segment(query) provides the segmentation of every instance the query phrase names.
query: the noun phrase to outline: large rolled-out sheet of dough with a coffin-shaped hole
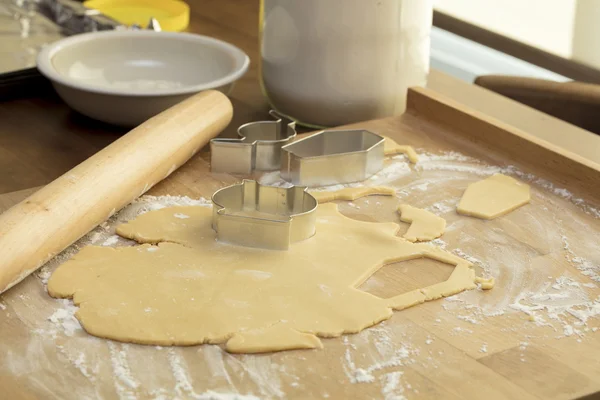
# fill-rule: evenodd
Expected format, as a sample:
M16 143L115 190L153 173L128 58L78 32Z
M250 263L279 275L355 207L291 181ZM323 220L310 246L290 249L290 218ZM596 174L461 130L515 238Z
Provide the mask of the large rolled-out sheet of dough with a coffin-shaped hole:
M158 246L87 246L52 274L48 292L72 297L95 336L260 353L321 347L318 337L356 333L394 309L476 287L469 262L396 237L397 224L353 220L335 204L316 213L315 236L270 251L216 241L210 207L151 211L117 232ZM384 264L419 257L454 265L450 278L390 299L357 289Z

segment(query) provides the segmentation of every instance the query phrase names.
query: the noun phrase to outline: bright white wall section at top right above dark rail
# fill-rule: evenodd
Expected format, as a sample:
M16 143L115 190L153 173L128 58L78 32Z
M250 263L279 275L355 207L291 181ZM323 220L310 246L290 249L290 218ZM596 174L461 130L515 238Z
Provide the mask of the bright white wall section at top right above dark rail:
M600 15L600 0L579 1L598 8L596 17ZM436 0L435 8L548 52L571 57L576 5L577 0ZM600 20L593 24L600 26ZM596 36L596 40L600 44L600 37ZM600 48L596 51L600 60Z

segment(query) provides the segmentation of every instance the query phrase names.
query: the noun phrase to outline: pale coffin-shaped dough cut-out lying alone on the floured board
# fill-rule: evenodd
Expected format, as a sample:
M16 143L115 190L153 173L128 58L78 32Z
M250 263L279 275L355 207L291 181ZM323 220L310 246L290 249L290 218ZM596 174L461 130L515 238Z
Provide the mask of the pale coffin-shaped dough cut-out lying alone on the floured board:
M456 211L462 215L494 219L529 203L529 185L510 176L495 174L471 183Z

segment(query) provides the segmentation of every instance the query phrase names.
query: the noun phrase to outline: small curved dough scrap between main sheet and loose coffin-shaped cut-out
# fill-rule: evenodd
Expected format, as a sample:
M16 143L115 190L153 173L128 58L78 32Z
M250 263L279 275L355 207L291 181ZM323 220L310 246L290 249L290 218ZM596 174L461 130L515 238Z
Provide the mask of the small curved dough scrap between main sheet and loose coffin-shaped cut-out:
M408 231L402 236L411 242L424 242L439 238L446 229L446 220L420 208L401 204L398 206L400 220L410 222Z

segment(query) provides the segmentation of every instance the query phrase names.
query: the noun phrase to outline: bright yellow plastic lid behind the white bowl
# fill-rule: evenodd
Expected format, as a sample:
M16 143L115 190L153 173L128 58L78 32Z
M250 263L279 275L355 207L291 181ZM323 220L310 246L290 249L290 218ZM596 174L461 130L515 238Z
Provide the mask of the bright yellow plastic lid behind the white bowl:
M146 27L155 18L163 31L179 32L190 23L190 7L179 0L88 0L83 5L123 25Z

